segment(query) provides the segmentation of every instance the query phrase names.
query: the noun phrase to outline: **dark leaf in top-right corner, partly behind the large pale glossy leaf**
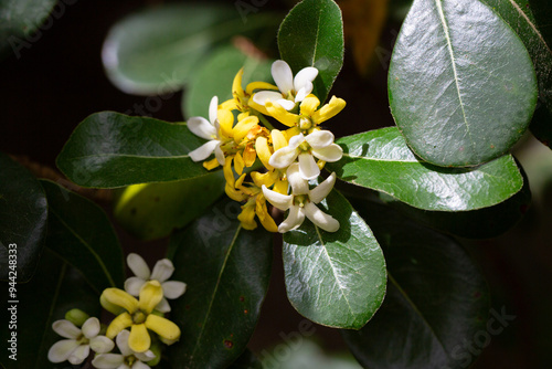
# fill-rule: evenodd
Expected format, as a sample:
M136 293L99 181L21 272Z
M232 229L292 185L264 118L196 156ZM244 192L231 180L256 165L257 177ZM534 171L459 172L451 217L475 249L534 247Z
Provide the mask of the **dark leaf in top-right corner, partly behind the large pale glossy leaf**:
M491 7L523 41L534 64L539 82L540 107L531 122L531 131L546 146L552 145L552 39L549 0L482 0Z

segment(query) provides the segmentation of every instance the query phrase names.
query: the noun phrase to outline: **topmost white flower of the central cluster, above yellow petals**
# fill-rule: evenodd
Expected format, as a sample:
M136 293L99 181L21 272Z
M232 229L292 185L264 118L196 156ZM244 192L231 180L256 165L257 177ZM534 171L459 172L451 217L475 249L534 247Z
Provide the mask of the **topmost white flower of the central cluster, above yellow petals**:
M273 63L272 74L279 93L259 91L253 95L253 101L263 106L266 101L270 101L286 110L290 110L295 107L295 104L302 102L312 92L312 81L318 75L318 70L314 66L304 67L294 78L289 65L284 61L276 61Z

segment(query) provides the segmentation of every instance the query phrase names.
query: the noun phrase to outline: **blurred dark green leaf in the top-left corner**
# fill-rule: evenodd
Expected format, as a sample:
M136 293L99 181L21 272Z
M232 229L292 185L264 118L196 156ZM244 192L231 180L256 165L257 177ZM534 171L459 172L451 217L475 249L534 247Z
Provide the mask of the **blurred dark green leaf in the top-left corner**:
M42 36L40 27L54 8L56 0L2 0L0 1L0 55L14 53L21 57L23 50ZM53 20L50 20L49 28ZM44 27L45 28L45 27Z

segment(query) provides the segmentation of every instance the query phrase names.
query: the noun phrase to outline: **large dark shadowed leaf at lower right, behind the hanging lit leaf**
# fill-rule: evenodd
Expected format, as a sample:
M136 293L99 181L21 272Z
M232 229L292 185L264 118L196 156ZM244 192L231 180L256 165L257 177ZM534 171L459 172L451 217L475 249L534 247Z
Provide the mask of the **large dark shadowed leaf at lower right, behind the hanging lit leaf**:
M469 367L503 329L487 320L488 288L477 266L453 239L389 207L355 204L383 247L389 280L374 318L360 331L342 331L353 355L365 368Z

